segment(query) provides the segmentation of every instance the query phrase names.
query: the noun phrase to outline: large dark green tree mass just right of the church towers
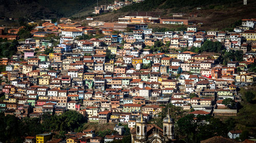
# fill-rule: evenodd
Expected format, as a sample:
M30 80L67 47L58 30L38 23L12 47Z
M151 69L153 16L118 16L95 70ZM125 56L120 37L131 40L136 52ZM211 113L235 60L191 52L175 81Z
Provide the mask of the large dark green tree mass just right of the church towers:
M185 142L200 142L213 136L227 136L226 125L210 115L189 114L177 121L176 134Z

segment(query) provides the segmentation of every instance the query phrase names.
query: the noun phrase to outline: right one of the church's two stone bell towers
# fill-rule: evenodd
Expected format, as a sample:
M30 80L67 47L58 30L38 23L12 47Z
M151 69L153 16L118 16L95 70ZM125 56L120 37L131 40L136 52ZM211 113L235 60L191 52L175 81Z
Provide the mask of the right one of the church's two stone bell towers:
M163 119L163 135L169 139L174 139L174 119L170 118L169 108L167 116Z

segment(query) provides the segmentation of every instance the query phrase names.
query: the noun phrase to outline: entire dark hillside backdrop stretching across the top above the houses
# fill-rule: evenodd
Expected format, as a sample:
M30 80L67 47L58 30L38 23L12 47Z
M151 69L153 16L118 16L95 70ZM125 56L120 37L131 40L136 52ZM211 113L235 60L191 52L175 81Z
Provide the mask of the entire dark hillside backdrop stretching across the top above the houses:
M109 5L114 4L114 0L98 0L98 3ZM256 18L256 1L247 0L247 4L243 5L243 0L145 0L111 13L94 15L94 19L117 21L118 17L137 14L173 18L172 13L184 13L186 15L180 18L203 23L199 27L202 30L231 30L238 20ZM92 14L95 6L97 0L0 0L0 17L24 17L31 20L73 17L81 21ZM197 11L198 7L201 10ZM188 17L189 13L197 13L199 17ZM150 27L154 26L173 28L175 25L150 24Z

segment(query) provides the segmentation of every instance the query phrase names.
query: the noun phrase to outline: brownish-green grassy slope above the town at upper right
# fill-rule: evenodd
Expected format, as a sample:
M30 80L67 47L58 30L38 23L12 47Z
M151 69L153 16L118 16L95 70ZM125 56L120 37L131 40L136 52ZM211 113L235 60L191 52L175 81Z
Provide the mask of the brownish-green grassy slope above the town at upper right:
M231 0L230 0L231 2ZM146 0L141 4L134 4L131 6L126 6L118 11L112 13L106 13L100 16L96 16L96 19L101 19L102 21L112 21L112 18L115 20L118 17L124 15L136 15L136 12L155 12L151 16L158 17L159 15L164 18L173 18L171 13L173 12L184 12L184 13L199 13L200 17L191 18L197 22L202 22L203 25L199 27L200 30L222 30L223 28L230 27L234 21L243 19L243 18L255 18L255 4L256 1L248 0L248 5L244 6L242 1L233 0L231 3L229 1L204 1L201 3L201 0L193 1L193 4L190 4L188 0ZM187 6L185 4L190 4ZM206 5L207 4L207 5ZM202 10L197 11L196 8L201 7ZM135 14L134 14L135 13ZM183 16L182 18L187 18L188 15ZM175 28L177 25L167 25L167 24L154 24L150 25L151 27L167 27Z

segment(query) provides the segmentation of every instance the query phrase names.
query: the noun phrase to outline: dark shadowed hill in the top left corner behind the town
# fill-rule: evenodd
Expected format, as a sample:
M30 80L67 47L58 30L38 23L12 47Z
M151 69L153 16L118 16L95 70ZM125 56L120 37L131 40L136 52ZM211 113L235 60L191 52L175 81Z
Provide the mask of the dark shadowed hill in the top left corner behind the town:
M99 5L113 4L114 0L98 0ZM97 0L0 0L0 17L31 19L70 17L92 13Z

